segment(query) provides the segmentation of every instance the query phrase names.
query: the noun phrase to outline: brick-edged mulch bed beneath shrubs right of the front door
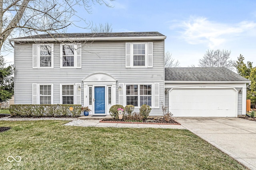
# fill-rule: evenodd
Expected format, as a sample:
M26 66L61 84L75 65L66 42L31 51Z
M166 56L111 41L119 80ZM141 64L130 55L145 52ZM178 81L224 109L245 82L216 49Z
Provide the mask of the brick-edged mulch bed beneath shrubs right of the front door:
M157 125L180 125L180 123L171 119L170 121L166 121L163 118L148 118L143 119L142 122L131 122L124 121L124 119L102 119L101 123L138 123L138 124L157 124Z

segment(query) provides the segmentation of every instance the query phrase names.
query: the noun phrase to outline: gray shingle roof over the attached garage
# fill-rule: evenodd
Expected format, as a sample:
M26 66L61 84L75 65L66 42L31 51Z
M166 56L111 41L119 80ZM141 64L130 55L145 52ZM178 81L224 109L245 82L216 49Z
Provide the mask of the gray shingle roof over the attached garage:
M249 81L225 67L165 68L165 81Z

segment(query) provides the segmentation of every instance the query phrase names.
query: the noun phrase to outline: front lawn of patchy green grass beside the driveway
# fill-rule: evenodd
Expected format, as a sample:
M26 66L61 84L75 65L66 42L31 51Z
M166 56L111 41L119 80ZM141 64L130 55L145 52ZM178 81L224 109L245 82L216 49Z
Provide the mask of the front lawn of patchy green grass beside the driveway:
M239 170L188 130L70 127L68 121L0 121L0 169ZM7 161L20 156L19 164Z

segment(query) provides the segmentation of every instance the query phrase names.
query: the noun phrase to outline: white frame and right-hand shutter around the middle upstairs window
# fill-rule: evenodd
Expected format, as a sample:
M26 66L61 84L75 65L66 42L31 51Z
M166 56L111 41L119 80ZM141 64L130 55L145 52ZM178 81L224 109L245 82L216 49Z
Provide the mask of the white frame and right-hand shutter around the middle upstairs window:
M74 45L74 66L63 66L63 56L62 56L62 46L63 45ZM80 45L79 49L78 46ZM70 69L70 68L82 68L82 54L81 54L81 43L61 43L60 44L60 68L61 69ZM80 67L77 67L77 50L80 50Z

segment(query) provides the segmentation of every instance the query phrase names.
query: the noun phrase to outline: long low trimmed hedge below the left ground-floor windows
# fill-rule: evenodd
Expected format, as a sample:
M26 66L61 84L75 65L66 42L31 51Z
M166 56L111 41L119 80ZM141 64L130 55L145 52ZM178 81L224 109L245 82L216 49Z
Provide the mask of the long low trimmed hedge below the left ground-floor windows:
M73 107L73 111L69 108ZM10 105L9 111L12 116L80 116L82 105Z

